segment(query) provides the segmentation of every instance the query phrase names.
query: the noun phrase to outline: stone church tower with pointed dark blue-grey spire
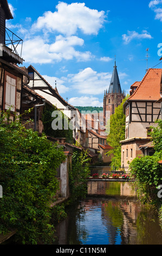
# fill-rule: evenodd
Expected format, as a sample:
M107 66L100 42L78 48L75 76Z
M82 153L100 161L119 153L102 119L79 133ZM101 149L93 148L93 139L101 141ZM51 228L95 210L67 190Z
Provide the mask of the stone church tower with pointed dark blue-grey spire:
M105 91L103 96L103 115L106 117L106 111L109 111L109 114L112 115L115 112L115 108L118 107L122 100L125 98L124 91L122 92L116 61L114 65L114 70L112 74L111 83L109 84L109 89Z

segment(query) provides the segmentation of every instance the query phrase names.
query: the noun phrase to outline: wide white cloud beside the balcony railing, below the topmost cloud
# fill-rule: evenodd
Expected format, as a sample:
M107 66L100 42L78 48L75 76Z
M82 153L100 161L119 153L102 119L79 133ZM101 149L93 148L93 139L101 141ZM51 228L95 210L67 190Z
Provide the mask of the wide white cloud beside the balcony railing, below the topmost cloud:
M75 46L82 46L83 39L77 36L62 35L56 36L53 44L46 42L41 36L35 36L33 39L27 39L23 43L23 58L29 63L53 63L61 62L62 59L77 61L87 61L93 58L90 52L80 52L75 50Z

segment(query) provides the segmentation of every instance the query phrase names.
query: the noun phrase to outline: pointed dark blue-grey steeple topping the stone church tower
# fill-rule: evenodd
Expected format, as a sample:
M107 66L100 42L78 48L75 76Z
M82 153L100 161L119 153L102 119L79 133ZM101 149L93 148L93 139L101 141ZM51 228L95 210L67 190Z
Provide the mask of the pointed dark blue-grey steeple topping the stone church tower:
M109 85L108 93L122 93L119 76L118 76L118 71L116 68L117 68L117 66L116 66L116 58L115 58L115 65L114 65L114 70L113 70L113 74L112 74L111 83Z

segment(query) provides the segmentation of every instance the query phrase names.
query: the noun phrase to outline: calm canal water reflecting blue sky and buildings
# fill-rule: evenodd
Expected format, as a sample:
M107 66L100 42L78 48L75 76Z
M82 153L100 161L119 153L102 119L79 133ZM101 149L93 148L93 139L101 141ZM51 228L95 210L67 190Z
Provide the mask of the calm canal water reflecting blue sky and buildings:
M132 182L88 181L86 199L56 226L56 245L161 245L162 224Z

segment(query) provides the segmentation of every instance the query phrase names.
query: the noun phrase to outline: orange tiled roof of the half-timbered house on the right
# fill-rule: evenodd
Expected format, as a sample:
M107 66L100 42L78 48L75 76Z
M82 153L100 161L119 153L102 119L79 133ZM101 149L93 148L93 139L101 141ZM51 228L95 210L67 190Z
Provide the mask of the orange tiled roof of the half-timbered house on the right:
M159 100L161 74L162 69L148 69L138 88L128 100Z

